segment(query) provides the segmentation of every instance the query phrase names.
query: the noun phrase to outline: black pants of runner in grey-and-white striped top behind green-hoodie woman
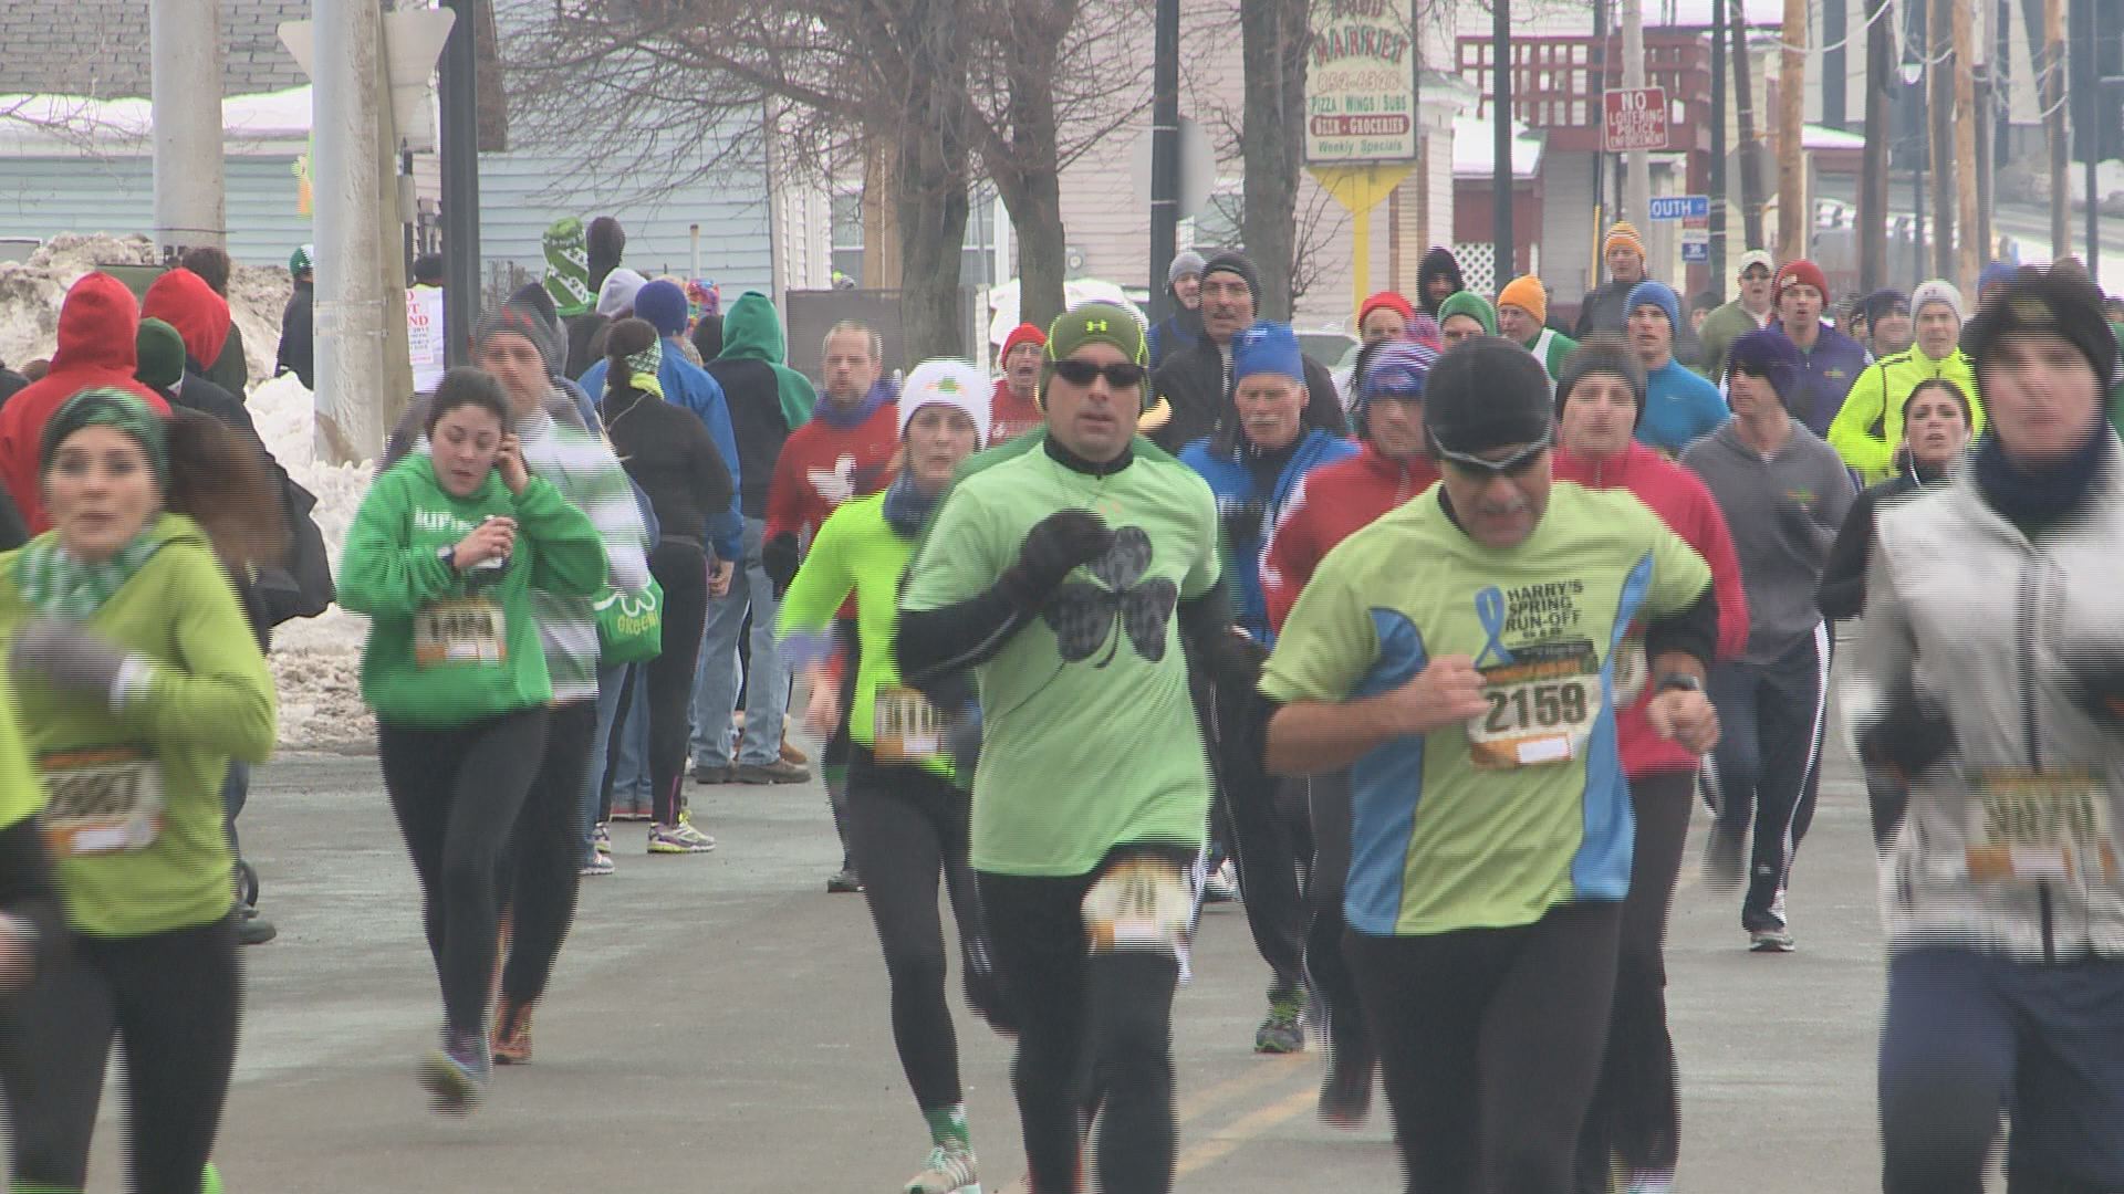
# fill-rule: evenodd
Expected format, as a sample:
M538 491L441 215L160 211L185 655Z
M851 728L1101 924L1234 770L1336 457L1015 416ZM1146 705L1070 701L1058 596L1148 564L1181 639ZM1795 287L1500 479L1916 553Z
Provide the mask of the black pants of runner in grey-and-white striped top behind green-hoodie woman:
M503 863L510 958L501 969L501 996L516 1007L546 994L582 888L582 790L590 782L597 701L554 705L548 718L546 752Z

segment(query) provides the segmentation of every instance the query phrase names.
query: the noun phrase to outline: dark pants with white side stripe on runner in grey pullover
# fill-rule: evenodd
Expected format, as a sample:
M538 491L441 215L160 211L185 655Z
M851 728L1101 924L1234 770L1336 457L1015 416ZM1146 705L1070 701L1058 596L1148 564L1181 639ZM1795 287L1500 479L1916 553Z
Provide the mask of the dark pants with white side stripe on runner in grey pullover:
M1720 733L1708 780L1718 797L1718 833L1744 835L1754 820L1740 911L1740 926L1750 933L1784 928L1771 907L1814 822L1827 690L1827 625L1771 663L1712 667L1710 697Z

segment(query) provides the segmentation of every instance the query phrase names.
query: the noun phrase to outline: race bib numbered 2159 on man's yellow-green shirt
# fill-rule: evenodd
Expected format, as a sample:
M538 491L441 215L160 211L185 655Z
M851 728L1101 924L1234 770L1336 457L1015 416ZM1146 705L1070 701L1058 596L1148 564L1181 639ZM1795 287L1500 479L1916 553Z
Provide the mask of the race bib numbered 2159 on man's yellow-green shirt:
M1593 646L1534 644L1483 669L1489 712L1468 720L1468 748L1483 771L1570 763L1585 754L1601 712Z

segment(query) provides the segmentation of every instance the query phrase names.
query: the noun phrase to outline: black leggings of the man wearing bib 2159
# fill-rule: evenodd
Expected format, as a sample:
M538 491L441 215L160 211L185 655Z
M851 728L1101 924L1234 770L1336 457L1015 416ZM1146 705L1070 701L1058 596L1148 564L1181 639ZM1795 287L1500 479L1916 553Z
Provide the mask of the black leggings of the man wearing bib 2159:
M1621 920L1585 903L1517 928L1349 935L1408 1194L1572 1188Z

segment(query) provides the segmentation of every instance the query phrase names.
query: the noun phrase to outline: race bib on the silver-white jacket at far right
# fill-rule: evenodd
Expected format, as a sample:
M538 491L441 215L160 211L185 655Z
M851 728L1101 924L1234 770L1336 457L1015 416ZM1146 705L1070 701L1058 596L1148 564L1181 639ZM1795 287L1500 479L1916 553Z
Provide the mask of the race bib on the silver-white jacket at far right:
M1969 773L1969 877L2116 886L2109 790L2086 769Z

